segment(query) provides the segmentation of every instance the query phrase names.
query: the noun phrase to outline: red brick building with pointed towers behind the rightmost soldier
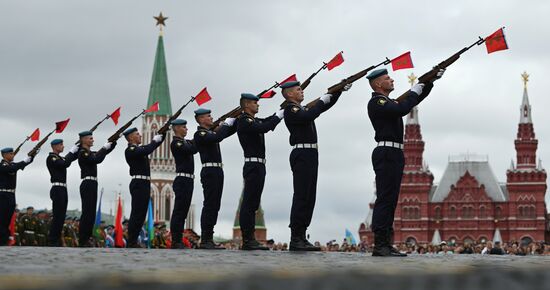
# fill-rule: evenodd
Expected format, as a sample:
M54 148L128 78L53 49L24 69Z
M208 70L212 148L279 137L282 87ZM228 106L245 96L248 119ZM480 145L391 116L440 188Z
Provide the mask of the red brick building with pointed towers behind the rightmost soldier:
M528 75L522 76L525 87L514 141L516 160L506 172L505 183L498 182L486 157L464 156L450 158L439 184L434 184L422 157L418 109L412 110L405 129L405 170L394 221L396 243L545 240L549 228L546 171L537 162ZM369 227L373 206L359 228L359 236L369 242L373 241Z

